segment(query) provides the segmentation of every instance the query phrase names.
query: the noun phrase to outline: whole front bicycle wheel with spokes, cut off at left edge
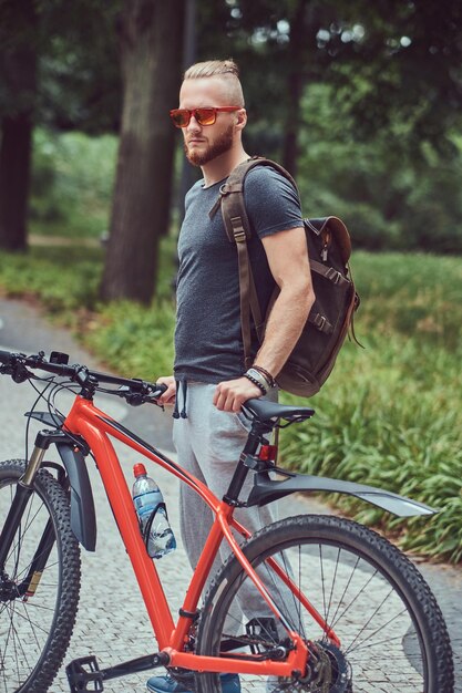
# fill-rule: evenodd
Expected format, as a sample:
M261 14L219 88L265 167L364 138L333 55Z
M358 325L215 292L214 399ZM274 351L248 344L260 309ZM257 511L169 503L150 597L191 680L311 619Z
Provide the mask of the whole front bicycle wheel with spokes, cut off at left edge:
M25 463L0 463L0 527L11 506ZM27 600L14 586L28 575L40 537L51 520L53 541L37 591ZM80 547L71 529L66 493L45 469L0 575L0 693L45 693L66 652L80 593Z

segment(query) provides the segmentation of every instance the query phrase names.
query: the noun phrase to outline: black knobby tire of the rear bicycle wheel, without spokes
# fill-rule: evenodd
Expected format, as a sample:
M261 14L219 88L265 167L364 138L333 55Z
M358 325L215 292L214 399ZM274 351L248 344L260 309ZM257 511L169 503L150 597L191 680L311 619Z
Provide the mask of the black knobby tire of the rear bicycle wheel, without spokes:
M244 552L251 562L264 551L287 541L289 537L302 536L337 539L371 559L401 591L404 601L413 610L432 661L430 684L424 693L453 693L454 669L451 642L444 618L438 602L411 560L388 539L353 520L325 515L300 515L279 520L256 532L244 545ZM214 620L219 596L233 585L242 567L233 555L228 557L209 586L197 633L197 652L209 653L208 642L214 631ZM199 690L206 691L207 685Z

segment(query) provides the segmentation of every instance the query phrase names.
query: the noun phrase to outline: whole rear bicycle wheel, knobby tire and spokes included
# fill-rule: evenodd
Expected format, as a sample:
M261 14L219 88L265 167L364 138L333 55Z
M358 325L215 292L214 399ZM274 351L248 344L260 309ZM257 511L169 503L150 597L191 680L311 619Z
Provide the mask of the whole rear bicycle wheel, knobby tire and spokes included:
M343 518L304 515L258 531L246 544L245 555L318 658L311 659L312 671L305 672L305 681L242 675L246 691L453 693L452 651L441 610L414 565L377 532ZM340 638L338 648L295 596L288 596L274 571L269 575L264 561L271 557L290 565L294 581ZM248 656L253 640L254 651L270 659L265 652L284 642L281 627L263 621L257 602L248 607L251 590L255 596L240 563L229 557L204 600L198 654L216 656L234 643L235 656L238 651ZM243 599L247 617L240 616ZM258 620L263 624L255 629ZM196 674L196 685L199 693L222 691L217 674Z

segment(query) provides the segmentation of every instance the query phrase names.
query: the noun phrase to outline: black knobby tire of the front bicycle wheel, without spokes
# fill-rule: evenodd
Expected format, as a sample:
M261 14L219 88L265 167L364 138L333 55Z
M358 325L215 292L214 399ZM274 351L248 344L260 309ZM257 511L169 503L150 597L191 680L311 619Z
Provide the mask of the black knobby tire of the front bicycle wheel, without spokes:
M0 463L0 484L7 479L19 479L24 473L25 463L11 459ZM69 498L58 480L47 470L40 469L35 488L54 518L61 544L61 594L53 621L53 632L49 635L31 676L14 693L44 693L51 686L64 659L74 629L79 607L81 561L80 547L71 529Z

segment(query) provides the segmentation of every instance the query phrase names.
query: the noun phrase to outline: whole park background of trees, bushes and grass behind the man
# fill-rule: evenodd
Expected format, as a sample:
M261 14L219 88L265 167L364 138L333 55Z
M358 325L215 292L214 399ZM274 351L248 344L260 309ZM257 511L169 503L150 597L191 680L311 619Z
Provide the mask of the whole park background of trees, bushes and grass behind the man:
M168 110L185 66L228 56L246 149L297 177L306 216L345 219L361 296L365 349L347 342L314 420L284 432L283 464L440 508L404 523L341 500L404 549L460 562L459 1L0 0L0 290L107 368L171 372L197 172Z

